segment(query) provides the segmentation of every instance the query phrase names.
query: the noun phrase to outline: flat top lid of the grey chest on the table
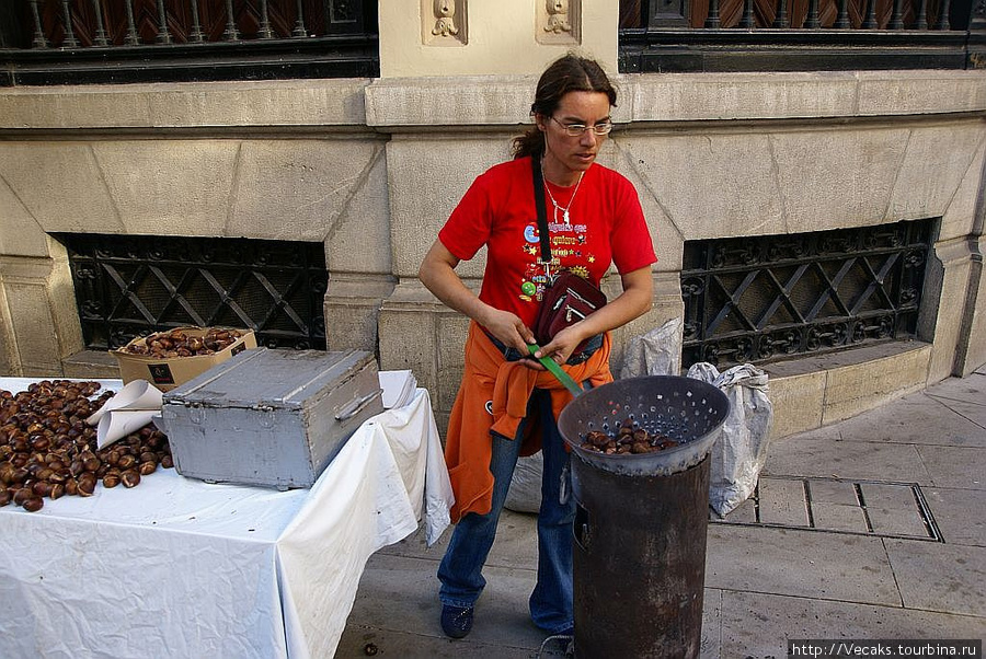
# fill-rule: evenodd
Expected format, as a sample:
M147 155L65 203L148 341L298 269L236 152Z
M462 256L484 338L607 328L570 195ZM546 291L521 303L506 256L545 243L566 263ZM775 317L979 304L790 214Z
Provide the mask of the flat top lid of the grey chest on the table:
M164 404L300 408L374 359L364 350L244 350L164 394Z

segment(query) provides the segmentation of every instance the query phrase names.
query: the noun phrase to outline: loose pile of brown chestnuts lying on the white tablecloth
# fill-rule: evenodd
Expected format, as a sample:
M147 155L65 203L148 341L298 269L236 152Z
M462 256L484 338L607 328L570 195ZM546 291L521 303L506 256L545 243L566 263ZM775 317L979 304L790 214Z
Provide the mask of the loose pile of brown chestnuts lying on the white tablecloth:
M134 487L140 476L174 466L168 437L152 424L96 449L96 429L85 423L113 397L99 382L43 380L13 394L0 390L0 506L30 512L45 498L89 497L96 484Z

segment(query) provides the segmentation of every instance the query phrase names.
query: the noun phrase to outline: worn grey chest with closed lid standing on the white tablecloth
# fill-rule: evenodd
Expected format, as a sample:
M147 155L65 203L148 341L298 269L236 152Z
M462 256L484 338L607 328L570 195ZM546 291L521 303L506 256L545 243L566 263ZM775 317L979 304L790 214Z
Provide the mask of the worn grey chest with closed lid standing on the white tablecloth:
M174 466L215 483L309 487L383 412L369 352L240 352L164 394Z

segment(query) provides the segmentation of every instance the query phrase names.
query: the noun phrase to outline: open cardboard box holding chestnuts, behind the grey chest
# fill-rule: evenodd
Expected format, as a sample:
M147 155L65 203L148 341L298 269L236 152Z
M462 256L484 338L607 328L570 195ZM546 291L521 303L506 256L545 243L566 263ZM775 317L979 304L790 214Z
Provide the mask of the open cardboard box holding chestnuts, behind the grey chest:
M177 327L188 336L205 336L209 327ZM222 327L223 330L232 327ZM243 336L238 338L236 343L227 346L218 352L211 355L197 355L195 357L172 357L170 359L158 359L147 355L134 355L127 352L126 349L110 350L116 357L119 365L119 377L124 384L133 380L147 380L161 391L171 391L180 384L184 384L196 375L206 372L214 366L222 363L233 355L243 350L256 347L256 336L253 330L240 330ZM169 332L173 332L169 330ZM168 334L168 332L158 332L157 334ZM129 345L145 342L148 337L139 336L131 340Z

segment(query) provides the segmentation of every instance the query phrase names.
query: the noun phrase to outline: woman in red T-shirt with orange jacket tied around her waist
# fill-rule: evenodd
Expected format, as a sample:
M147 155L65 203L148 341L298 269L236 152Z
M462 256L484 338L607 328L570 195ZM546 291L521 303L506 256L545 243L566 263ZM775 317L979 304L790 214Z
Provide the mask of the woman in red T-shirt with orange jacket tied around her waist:
M472 628L485 586L482 567L518 455L543 453L538 515L538 582L531 620L550 634L571 634L574 500L567 452L557 417L571 394L529 359L531 326L552 273L571 269L598 286L615 263L622 293L559 332L535 355L555 360L575 380L612 380L608 331L651 308L656 261L637 192L595 163L612 128L616 91L593 60L567 55L541 76L535 126L514 140L514 159L480 175L452 211L421 265L422 282L470 324L466 370L449 418L446 462L457 521L438 570L442 627L454 638ZM540 263L531 167L543 172L552 258ZM455 273L485 245L479 296ZM576 348L578 351L576 352Z

